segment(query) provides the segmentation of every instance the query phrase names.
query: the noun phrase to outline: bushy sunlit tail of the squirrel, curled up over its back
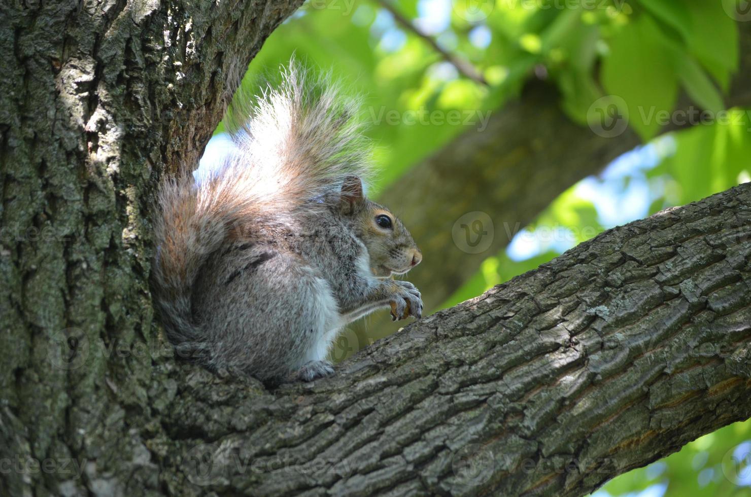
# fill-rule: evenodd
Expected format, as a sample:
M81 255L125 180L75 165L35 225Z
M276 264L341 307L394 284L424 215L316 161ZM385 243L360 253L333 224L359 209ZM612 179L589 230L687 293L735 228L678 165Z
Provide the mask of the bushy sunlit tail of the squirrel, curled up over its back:
M192 318L192 288L234 227L285 222L338 194L349 176L366 179L369 154L358 108L330 77L291 62L276 88L235 98L227 116L235 148L220 167L198 181L183 173L163 183L154 287L171 342L195 352L210 341L212 330Z

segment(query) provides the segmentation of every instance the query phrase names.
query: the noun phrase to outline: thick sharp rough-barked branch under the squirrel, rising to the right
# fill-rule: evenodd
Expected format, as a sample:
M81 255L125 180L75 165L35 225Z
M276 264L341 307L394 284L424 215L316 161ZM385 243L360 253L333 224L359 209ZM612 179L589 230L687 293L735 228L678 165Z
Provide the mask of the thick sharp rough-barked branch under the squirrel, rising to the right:
M746 184L609 230L312 384L177 369L161 475L173 493L584 495L751 415L749 226Z

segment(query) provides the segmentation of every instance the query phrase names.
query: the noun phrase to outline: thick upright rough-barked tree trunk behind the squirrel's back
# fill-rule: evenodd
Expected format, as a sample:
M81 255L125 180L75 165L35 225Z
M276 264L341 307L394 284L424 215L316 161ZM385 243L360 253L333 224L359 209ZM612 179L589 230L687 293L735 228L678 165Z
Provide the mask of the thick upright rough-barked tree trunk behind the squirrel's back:
M158 343L158 176L197 163L248 62L302 2L0 5L0 494L161 491L144 440L164 377L148 354L75 366ZM27 458L58 471L5 471ZM73 459L89 461L83 479L60 470Z

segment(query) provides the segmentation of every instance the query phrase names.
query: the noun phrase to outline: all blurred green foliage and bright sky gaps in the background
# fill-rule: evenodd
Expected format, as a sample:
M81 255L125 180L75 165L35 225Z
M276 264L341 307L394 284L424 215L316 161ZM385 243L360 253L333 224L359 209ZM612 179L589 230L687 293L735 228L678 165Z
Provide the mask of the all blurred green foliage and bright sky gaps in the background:
M345 82L345 91L366 95L363 119L371 125L374 158L382 169L372 187L376 194L451 137L478 131L480 113L501 110L533 78L549 80L559 90L562 109L583 126L613 105L628 118L645 145L569 188L529 226L517 227L508 248L490 255L445 303L451 306L605 229L751 179L749 113L723 113L723 94L739 59L739 23L730 14L744 2L391 3L443 50L474 66L487 81L483 85L460 74L379 2L309 0L268 38L243 86L253 91L259 78L276 73L294 53L308 65L330 69ZM712 119L675 115L681 92ZM446 119L450 111L472 116L472 122ZM656 137L663 122L680 125L679 119L698 125ZM728 454L749 439L751 422L727 426L617 477L598 495L751 495L751 468L746 480L728 477ZM751 456L745 457L748 465Z

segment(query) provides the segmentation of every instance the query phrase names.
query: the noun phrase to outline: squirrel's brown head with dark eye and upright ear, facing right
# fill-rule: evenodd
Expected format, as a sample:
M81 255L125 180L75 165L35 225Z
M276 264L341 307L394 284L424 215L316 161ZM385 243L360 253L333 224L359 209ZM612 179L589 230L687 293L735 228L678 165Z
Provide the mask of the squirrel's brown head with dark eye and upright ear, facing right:
M402 221L363 194L360 179L350 176L342 185L339 209L370 255L376 278L404 274L420 264L422 254Z

